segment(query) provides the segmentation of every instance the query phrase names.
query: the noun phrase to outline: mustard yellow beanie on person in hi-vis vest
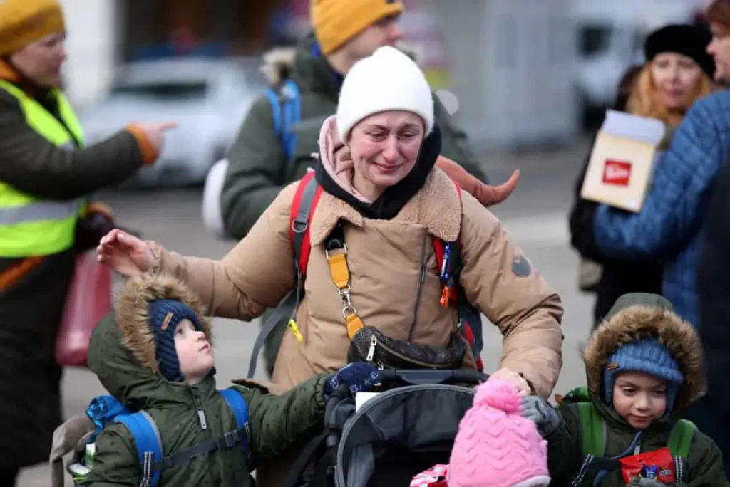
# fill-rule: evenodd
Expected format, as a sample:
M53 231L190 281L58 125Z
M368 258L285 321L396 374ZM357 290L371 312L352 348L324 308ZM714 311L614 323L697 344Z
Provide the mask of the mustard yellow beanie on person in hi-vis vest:
M66 31L58 0L0 0L0 56Z

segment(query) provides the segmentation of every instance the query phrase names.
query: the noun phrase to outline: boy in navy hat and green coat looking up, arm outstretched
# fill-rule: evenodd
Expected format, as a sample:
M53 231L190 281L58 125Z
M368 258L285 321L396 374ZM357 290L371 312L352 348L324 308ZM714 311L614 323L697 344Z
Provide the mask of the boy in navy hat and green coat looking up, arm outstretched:
M114 316L97 325L88 366L126 410L152 419L161 460L140 460L128 424L104 421L96 425L91 467L77 478L85 487L254 486L250 472L261 461L322 431L326 401L338 386L369 390L380 376L372 365L357 362L280 396L244 386L220 391L210 319L198 297L174 278L148 275L127 281ZM229 402L237 394L247 409L243 432L241 408ZM101 405L96 409L104 413Z

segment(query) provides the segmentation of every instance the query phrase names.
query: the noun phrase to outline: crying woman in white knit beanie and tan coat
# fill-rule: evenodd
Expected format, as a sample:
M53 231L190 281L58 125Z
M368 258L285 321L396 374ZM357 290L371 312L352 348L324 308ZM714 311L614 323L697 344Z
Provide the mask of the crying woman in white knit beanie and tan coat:
M221 316L251 319L299 296L266 384L275 392L348 361L480 369L481 312L504 335L496 376L547 397L561 368L560 298L437 167L441 133L418 66L392 47L358 61L319 145L314 174L285 187L220 262L118 233L101 261L171 273Z

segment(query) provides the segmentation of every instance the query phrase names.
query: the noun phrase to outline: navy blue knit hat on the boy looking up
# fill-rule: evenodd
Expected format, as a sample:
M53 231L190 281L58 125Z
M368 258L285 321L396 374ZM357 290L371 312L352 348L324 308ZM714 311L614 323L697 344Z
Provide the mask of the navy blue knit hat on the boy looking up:
M189 319L196 330L203 326L195 312L177 300L154 300L147 306L147 322L155 332L156 359L160 373L170 382L183 382L185 378L177 361L174 333L177 324Z

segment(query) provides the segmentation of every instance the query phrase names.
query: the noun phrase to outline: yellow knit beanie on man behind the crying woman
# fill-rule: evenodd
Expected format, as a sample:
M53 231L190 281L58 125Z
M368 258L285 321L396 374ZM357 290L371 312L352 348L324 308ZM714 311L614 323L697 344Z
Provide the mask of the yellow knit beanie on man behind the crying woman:
M342 44L388 15L399 14L398 0L311 0L312 27L322 54Z

